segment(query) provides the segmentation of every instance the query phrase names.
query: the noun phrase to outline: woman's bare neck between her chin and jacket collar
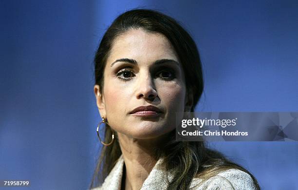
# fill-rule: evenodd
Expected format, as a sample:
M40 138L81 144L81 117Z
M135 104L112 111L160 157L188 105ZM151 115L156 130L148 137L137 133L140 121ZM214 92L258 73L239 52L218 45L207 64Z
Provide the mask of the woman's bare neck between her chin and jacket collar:
M125 163L125 190L139 190L157 162L154 147L160 145L161 140L134 139L121 133L118 138Z

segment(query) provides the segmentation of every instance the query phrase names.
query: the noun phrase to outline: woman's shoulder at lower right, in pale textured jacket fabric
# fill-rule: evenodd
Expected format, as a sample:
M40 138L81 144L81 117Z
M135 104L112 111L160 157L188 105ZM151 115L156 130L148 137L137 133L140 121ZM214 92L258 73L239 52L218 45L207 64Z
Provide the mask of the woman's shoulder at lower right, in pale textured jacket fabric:
M209 179L194 178L192 190L256 190L252 177L245 171L230 169Z

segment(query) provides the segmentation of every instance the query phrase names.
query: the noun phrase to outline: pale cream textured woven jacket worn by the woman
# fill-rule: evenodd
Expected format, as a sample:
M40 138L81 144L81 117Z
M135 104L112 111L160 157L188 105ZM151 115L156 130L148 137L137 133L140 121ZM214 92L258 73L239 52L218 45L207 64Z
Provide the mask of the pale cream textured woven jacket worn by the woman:
M172 175L167 173L161 165L159 159L148 178L145 180L141 190L166 190L168 181ZM106 177L101 187L93 190L121 190L121 180L123 173L124 159L121 155L110 174ZM255 190L255 186L250 175L241 170L227 170L209 178L202 184L201 179L194 178L190 185L191 190ZM199 186L198 186L199 185Z

